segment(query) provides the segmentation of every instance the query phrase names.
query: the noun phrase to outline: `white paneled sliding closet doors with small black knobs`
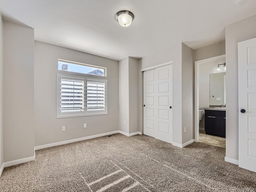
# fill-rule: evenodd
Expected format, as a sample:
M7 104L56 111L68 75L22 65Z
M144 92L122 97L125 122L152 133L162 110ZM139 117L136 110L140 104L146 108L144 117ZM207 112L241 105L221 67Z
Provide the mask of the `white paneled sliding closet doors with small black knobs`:
M143 73L143 133L172 142L172 65Z

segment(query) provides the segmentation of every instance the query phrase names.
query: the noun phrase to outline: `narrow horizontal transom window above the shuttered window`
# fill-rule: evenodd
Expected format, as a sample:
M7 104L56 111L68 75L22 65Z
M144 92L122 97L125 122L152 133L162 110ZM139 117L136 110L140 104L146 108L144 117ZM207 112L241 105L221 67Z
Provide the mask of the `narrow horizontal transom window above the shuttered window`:
M58 60L58 70L90 75L106 76L106 68L78 62Z

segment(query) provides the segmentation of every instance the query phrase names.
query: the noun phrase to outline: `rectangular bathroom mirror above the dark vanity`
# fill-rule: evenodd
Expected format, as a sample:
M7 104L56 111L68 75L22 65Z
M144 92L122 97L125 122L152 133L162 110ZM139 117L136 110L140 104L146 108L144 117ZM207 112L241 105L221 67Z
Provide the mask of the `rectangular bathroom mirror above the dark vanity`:
M210 105L226 105L226 72L210 74Z

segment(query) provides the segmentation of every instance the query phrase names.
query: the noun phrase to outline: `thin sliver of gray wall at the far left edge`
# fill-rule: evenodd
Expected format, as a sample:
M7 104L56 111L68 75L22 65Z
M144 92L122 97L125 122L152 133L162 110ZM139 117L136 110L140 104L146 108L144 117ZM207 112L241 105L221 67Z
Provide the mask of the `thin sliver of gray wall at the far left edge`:
M3 20L0 13L0 169L4 163L4 103L3 103L3 88L4 88L4 59L3 59ZM1 173L0 173L1 174Z

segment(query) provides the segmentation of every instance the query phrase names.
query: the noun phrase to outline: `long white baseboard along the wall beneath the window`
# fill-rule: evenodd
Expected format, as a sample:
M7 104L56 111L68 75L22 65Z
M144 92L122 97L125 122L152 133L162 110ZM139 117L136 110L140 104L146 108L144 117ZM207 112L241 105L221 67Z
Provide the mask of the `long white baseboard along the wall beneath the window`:
M77 138L77 139L72 139L72 140L67 140L67 141L61 141L61 142L57 142L57 143L40 145L40 146L36 146L35 150L44 149L44 148L48 148L48 147L59 146L59 145L64 145L64 144L83 141L83 140L88 140L88 139L93 139L93 138L112 135L112 134L116 134L116 133L119 133L119 131L112 131L112 132L102 133L102 134L98 134L98 135L92 135L92 136L88 136L88 137L82 137L82 138Z

